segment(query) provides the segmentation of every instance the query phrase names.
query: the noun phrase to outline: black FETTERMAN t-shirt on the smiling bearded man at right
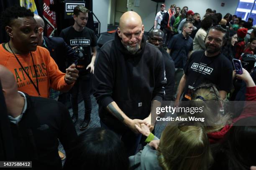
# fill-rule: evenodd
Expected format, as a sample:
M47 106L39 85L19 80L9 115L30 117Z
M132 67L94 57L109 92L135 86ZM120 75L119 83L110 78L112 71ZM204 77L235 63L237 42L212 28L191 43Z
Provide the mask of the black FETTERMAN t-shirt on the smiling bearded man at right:
M189 85L198 87L203 82L217 85L218 90L231 90L233 66L223 54L207 57L204 50L195 51L184 67L184 72L187 75L184 95L187 94Z

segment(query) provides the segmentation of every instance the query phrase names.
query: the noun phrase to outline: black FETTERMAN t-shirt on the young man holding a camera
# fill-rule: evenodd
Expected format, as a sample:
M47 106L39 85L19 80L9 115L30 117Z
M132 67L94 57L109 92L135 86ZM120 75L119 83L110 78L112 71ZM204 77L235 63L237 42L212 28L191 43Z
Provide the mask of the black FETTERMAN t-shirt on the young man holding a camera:
M81 32L78 32L74 30L73 26L70 26L61 30L60 37L71 47L77 46L83 48L83 57L78 58L77 65L79 67L79 73L89 73L90 69L86 70L86 67L92 60L91 47L97 45L94 31L85 27Z

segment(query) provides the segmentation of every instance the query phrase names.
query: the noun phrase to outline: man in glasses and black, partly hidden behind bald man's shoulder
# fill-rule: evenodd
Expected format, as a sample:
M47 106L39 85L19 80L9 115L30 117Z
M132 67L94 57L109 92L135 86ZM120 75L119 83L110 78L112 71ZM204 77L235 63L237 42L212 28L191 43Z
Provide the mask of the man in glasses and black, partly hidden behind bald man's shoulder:
M171 101L174 99L175 66L172 57L166 52L166 50L163 49L164 32L159 29L151 30L149 32L148 42L156 46L164 57L165 77L167 81L166 85L164 86L164 100Z

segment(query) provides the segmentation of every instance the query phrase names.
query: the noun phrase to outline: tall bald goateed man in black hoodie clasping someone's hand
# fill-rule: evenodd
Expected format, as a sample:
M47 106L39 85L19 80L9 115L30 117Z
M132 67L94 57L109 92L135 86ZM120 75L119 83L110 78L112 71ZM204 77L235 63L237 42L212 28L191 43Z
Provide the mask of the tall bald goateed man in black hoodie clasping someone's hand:
M93 77L102 127L120 135L134 155L141 136L136 125L151 125L151 101L164 97L164 59L146 42L141 17L124 13L115 39L100 49Z

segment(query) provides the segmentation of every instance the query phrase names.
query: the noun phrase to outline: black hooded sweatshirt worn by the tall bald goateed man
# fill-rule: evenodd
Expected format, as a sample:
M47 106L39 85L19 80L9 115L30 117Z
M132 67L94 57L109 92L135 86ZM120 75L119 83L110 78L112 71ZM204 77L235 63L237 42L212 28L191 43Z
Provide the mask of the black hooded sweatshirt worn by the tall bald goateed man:
M115 130L126 128L106 107L113 101L131 119L144 119L151 101L164 97L164 59L143 36L140 50L132 55L118 34L100 49L93 76L93 90L102 122Z

